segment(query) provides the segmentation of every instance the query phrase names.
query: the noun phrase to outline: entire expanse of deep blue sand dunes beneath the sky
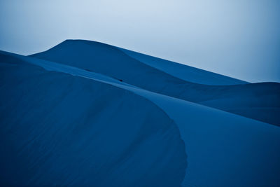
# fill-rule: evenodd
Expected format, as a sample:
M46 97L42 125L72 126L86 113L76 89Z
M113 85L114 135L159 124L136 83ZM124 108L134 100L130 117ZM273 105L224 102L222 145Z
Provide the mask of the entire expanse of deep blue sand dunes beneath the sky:
M280 185L280 83L82 40L0 65L1 186Z

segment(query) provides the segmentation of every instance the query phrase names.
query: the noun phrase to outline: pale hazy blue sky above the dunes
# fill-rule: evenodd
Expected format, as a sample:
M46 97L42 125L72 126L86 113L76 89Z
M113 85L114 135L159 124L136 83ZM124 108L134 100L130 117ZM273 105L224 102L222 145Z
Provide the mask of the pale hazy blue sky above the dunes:
M29 55L65 39L280 82L279 0L0 0L0 50Z

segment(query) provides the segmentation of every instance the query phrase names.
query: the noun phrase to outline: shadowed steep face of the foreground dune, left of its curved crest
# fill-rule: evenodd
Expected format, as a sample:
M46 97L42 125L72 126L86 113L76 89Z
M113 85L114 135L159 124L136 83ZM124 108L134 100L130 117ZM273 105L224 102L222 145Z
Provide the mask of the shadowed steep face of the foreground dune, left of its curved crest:
M0 56L1 185L180 186L185 145L120 88Z

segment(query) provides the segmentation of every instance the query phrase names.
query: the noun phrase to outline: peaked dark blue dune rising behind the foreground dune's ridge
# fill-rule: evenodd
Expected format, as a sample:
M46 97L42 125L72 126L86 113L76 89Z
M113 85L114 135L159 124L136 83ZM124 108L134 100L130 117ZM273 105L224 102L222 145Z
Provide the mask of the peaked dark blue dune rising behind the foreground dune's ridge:
M170 63L173 62L164 62L164 64L167 63L167 67L156 69L155 67L160 65L153 64L151 57L140 55L139 58L137 55L137 59L141 60L139 61L134 58L134 53L124 53L123 51L104 43L67 40L43 53L31 55L31 57L87 69L162 95L280 125L280 118L278 118L280 113L279 83L245 83L186 66L184 69L187 73L189 72L189 75L181 72L183 80L172 76L172 70L169 73L164 71L169 66L172 69L174 64ZM145 62L145 60L148 61ZM176 71L178 69L180 67L176 67ZM191 74L192 72L193 74ZM195 79L200 80L200 83L213 83L214 85L185 81ZM207 79L211 79L211 81L207 81ZM216 85L221 83L237 83L238 85Z

